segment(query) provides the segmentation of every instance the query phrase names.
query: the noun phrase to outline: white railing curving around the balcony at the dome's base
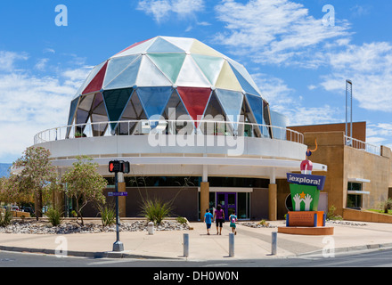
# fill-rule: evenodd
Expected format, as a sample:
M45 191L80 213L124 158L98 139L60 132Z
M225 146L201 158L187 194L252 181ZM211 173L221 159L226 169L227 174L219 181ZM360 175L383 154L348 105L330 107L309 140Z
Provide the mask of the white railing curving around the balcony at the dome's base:
M117 126L111 131L111 126ZM196 127L197 126L197 127ZM153 133L152 133L153 132ZM213 120L128 120L58 126L40 132L34 137L34 144L53 142L79 137L140 135L140 134L210 134L233 135L287 140L304 143L304 135L281 126L233 123Z

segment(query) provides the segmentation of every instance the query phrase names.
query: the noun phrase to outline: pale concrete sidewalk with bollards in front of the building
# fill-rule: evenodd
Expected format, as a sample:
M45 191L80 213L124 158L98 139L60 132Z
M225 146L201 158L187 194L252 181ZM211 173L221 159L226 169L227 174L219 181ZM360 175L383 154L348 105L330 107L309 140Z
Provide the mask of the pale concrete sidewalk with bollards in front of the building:
M271 222L284 226L284 221ZM239 224L234 237L234 256L237 259L277 258L322 253L323 248L334 252L372 248L392 248L392 224L366 225L327 224L334 227L332 236L304 236L278 233L277 255L271 255L272 232L277 228L250 228ZM184 260L219 260L229 257L229 224L222 235L216 235L213 224L207 235L203 223L190 223L191 231L120 232L123 252L112 252L115 232L75 233L67 235L0 234L0 250L66 254L67 256L174 258ZM184 257L183 237L189 234L189 256ZM66 251L64 251L64 249ZM0 252L1 256L1 252Z

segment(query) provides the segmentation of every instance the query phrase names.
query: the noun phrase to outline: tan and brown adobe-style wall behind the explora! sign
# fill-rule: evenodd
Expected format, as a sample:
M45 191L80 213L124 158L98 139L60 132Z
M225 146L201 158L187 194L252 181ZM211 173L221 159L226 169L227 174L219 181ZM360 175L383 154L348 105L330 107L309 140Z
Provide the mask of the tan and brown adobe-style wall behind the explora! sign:
M357 150L346 146L344 132L305 133L305 144L309 149L318 149L309 158L313 162L327 165L324 191L328 192L328 207L336 208L335 214L343 216L343 209L347 207L348 178L368 179L370 183L363 183L363 191L370 194L363 195L363 208L377 208L380 201L388 199L388 188L391 183L391 151L383 147L380 155Z

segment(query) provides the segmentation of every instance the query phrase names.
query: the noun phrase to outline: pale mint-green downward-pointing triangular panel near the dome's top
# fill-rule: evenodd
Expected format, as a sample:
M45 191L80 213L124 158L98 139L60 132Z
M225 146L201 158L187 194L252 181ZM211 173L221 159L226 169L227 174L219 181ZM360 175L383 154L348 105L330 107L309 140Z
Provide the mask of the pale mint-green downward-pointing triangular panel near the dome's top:
M174 84L185 60L185 53L148 53L157 67Z

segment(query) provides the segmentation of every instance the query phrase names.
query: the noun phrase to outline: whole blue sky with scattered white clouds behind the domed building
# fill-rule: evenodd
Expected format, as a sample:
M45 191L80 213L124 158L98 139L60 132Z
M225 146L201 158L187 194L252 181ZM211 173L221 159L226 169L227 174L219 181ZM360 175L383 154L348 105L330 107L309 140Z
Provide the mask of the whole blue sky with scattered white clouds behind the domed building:
M59 4L68 26L59 27ZM334 10L334 24L331 9ZM392 147L391 1L15 0L0 4L0 163L64 126L89 70L151 37L194 37L241 62L290 125L353 120Z

